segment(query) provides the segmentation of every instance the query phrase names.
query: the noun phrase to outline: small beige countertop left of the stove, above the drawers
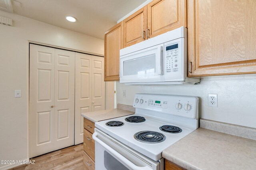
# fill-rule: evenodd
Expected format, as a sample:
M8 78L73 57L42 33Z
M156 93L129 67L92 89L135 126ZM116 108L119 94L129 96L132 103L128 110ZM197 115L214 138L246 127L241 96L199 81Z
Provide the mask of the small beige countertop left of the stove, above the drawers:
M97 121L102 121L102 120L107 120L107 119L112 119L116 117L132 115L132 114L134 114L134 112L123 110L123 109L107 109L107 110L82 113L81 115L84 118L95 123Z

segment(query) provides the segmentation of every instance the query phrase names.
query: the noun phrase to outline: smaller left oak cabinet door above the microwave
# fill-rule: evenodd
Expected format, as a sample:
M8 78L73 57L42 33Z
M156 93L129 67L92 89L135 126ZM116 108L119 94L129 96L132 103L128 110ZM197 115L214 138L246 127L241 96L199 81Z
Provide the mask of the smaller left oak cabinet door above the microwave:
M123 23L124 47L144 41L147 29L147 6L126 18Z

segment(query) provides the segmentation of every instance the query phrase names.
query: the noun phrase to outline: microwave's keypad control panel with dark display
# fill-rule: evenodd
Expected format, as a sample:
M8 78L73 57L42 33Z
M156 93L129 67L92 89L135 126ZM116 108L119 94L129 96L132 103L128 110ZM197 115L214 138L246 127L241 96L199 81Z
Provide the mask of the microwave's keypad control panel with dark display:
M179 48L178 44L166 46L166 72L178 72L180 70Z

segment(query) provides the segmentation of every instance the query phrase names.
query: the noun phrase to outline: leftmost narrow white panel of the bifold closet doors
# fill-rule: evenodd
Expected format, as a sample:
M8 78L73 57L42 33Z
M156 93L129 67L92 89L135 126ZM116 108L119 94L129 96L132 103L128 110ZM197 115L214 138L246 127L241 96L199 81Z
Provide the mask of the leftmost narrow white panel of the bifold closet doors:
M54 63L54 48L30 44L30 158L54 150Z

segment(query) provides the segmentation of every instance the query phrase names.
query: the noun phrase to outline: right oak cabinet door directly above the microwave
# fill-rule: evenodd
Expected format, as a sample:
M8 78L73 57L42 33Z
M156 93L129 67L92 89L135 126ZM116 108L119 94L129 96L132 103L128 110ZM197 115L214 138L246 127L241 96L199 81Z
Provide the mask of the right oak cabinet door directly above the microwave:
M187 26L187 0L153 0L148 4L147 37Z

